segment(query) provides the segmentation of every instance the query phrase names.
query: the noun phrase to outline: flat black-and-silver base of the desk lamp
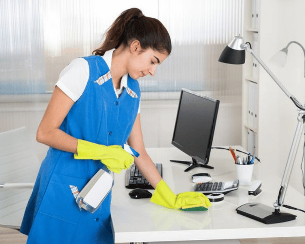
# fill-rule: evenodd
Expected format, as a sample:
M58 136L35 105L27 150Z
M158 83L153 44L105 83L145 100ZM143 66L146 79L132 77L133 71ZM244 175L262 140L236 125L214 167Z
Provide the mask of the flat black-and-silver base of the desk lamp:
M236 209L236 212L264 224L282 223L296 219L294 214L285 212L275 213L274 207L261 203L243 204Z

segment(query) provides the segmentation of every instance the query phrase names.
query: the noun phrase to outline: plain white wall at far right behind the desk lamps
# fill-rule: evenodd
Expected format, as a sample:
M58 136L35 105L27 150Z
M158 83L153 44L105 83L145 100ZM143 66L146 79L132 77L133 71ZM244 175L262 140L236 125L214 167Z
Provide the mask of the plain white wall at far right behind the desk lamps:
M273 66L269 60L289 41L298 41L305 46L305 1L262 0L260 2L260 57L285 88L304 104L305 78L302 49L292 44L289 47L286 66L283 68ZM259 90L259 155L262 162L273 167L282 178L297 123L296 107L262 67L260 67ZM303 142L304 136L301 144ZM301 156L299 153L296 158L290 183L303 193Z

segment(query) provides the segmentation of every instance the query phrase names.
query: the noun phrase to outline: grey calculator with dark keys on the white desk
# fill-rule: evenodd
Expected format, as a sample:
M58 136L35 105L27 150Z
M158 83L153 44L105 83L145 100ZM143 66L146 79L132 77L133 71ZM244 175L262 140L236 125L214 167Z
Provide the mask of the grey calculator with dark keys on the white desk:
M231 191L237 190L239 187L239 180L233 181L209 181L204 183L197 183L194 192L202 192L203 194L222 193L227 194Z

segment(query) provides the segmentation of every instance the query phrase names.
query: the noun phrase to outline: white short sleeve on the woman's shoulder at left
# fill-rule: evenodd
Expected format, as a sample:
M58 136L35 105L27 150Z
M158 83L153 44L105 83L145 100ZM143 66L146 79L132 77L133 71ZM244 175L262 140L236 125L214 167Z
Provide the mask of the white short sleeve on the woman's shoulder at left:
M83 58L73 59L59 74L56 86L76 102L83 94L89 79L89 65Z

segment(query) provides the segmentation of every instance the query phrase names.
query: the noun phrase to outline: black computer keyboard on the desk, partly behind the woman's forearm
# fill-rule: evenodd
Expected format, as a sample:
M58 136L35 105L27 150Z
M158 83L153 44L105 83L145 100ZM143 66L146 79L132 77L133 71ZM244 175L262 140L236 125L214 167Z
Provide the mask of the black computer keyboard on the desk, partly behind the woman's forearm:
M155 163L155 165L159 174L162 176L162 163ZM128 189L154 189L135 164L132 164L131 167L126 170L125 187Z

